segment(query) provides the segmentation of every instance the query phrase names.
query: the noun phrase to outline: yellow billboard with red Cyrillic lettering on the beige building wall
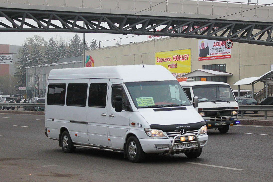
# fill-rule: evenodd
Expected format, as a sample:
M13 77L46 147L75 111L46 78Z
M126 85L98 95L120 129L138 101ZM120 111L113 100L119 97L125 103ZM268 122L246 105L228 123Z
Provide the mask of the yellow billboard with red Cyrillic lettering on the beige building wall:
M167 68L178 81L185 81L183 75L191 72L191 49L156 52L155 64Z

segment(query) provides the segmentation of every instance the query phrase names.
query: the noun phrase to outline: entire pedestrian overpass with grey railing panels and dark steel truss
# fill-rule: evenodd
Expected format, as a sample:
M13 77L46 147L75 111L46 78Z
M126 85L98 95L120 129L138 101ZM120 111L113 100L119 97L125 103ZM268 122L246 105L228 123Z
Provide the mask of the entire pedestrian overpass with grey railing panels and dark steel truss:
M0 32L230 39L239 43L273 46L272 18L273 3L266 5L214 0L0 0Z

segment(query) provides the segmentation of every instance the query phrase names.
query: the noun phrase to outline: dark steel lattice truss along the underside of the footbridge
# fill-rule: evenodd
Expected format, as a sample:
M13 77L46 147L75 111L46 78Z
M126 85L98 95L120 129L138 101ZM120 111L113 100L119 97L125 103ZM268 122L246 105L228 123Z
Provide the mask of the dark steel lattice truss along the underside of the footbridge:
M74 32L187 37L273 46L273 23L0 8L0 32ZM85 23L85 27L82 26ZM157 31L160 29L160 31Z

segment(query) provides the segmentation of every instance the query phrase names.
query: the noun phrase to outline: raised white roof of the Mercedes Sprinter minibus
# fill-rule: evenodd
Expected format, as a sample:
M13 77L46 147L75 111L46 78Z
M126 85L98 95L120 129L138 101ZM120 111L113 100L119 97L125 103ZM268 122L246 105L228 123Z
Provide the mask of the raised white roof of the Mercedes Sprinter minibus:
M165 67L146 64L52 69L48 76L48 80L72 78L118 78L123 82L176 80Z

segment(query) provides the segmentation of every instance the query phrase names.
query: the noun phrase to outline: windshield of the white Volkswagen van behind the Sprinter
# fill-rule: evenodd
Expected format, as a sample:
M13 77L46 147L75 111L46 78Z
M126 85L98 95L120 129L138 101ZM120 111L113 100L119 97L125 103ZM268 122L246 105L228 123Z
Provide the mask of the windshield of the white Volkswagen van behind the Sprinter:
M228 85L197 85L192 86L192 91L199 102L236 101Z

